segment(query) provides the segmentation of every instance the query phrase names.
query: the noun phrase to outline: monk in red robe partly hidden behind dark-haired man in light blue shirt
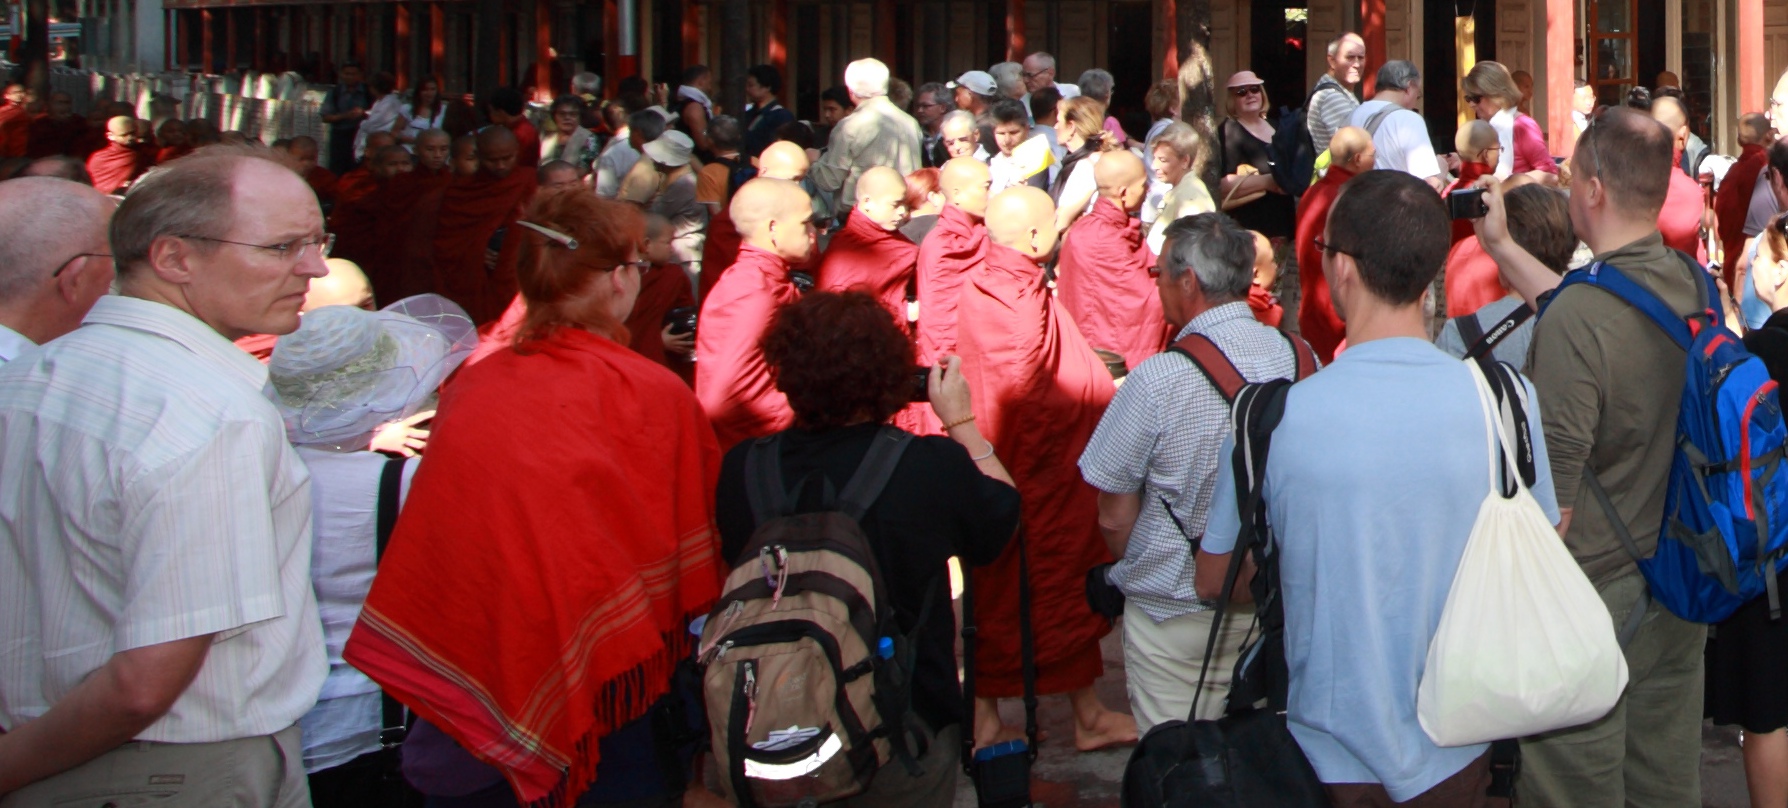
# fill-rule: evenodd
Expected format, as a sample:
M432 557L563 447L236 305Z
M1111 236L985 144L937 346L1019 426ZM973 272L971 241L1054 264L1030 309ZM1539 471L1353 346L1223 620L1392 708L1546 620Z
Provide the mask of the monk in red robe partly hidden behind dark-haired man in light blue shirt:
M1379 154L1371 147L1371 136L1359 127L1345 127L1328 141L1328 173L1316 181L1303 198L1298 200L1298 332L1311 343L1323 365L1334 361L1336 345L1346 336L1341 315L1328 297L1328 281L1323 279L1323 252L1316 248L1316 240L1328 227L1328 207L1334 206L1341 186L1355 173L1370 172Z

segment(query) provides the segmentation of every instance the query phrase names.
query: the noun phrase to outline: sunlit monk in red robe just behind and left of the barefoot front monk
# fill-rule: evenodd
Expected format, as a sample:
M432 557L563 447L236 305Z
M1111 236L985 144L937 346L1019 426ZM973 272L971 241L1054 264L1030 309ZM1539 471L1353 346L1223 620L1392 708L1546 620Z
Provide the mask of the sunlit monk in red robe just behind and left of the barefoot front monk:
M944 209L919 245L919 365L957 352L957 295L962 282L987 263L987 191L992 177L974 157L944 163L937 173ZM942 434L942 433L939 433Z

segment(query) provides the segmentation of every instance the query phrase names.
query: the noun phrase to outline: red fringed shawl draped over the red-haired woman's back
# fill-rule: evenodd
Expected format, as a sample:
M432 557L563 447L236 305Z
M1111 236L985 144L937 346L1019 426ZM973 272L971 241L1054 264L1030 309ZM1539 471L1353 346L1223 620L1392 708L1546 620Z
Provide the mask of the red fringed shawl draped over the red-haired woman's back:
M626 345L560 329L526 350L445 388L343 656L522 804L569 806L719 597L721 450L688 388Z

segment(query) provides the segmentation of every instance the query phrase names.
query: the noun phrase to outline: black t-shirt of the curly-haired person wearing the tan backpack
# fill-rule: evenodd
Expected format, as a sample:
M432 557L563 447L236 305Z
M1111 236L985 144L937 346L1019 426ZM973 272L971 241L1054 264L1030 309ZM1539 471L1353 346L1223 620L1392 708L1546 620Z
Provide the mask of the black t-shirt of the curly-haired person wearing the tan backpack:
M835 490L844 490L856 465L869 454L880 425L860 424L828 431L789 429L781 440L783 483L794 486L819 470ZM731 565L751 540L756 518L746 497L744 442L726 452L715 495L721 552ZM812 486L819 488L817 481ZM803 501L801 509L815 502ZM964 567L992 563L1017 531L1017 490L987 477L969 452L949 438L914 438L894 467L894 476L876 504L864 513L862 527L894 602L896 622L910 633L924 608L924 590L937 579L932 615L919 636L914 711L933 729L962 720L962 686L957 683L955 615L949 610L946 560L960 556Z

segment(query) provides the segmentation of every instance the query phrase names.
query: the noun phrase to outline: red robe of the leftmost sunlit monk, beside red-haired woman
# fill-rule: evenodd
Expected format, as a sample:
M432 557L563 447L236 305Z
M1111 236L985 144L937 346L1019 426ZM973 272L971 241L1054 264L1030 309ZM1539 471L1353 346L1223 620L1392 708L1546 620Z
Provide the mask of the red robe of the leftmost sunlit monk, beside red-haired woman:
M801 299L789 263L753 245L738 248L713 293L701 302L696 327L696 399L713 422L721 449L794 424L794 409L771 381L758 340L776 309Z

